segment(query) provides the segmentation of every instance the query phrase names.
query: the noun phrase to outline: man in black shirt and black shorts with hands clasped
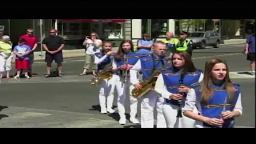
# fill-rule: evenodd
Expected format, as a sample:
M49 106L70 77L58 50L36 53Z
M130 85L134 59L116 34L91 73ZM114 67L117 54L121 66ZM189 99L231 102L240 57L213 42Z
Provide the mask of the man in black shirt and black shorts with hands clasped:
M50 77L51 63L54 61L58 64L58 76L62 76L62 62L64 47L64 39L57 35L57 30L50 30L50 36L42 40L42 46L46 50L47 74L46 78Z

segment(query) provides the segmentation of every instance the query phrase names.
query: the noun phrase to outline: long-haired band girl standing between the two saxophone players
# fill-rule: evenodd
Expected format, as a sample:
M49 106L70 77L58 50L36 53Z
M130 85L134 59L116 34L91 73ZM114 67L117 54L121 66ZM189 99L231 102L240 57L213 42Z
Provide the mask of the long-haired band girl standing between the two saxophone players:
M124 58L125 54L127 59ZM124 59L126 59L126 62L124 62ZM138 62L138 54L134 53L133 43L130 40L122 41L117 54L115 54L113 62L114 78L116 78L115 84L118 92L118 114L120 116L119 124L121 125L126 124L126 89L129 88L129 94L131 93L131 90L134 89L134 86L130 84L129 70L136 62ZM134 124L139 123L138 119L135 118L137 114L137 107L137 98L130 96L130 122Z

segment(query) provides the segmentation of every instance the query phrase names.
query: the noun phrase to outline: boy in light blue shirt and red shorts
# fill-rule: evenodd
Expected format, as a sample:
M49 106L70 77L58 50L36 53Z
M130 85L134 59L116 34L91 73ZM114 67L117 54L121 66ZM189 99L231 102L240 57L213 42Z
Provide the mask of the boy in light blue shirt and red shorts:
M21 70L24 71L25 77L30 79L28 74L28 70L30 69L30 46L27 46L26 39L20 38L18 40L18 45L14 47L14 54L15 57L15 68L16 68L16 75L14 79L20 78Z

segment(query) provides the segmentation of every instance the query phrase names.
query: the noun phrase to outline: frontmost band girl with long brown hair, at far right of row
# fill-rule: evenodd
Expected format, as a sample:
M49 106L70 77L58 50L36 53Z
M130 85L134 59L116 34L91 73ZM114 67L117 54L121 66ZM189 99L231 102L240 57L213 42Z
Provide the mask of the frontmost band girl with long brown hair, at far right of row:
M199 114L192 112L194 106ZM183 112L199 121L200 127L234 127L234 118L242 114L241 91L230 81L226 62L218 58L206 62L202 84L190 89Z

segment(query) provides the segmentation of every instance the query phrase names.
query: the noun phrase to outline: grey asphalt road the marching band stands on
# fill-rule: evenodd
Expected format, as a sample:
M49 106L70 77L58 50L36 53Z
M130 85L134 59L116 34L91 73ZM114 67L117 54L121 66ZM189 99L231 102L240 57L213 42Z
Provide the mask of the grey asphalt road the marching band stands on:
M246 56L241 54L243 47L194 50L193 59L202 70L209 58L226 59L232 81L242 86L244 112L238 118L238 127L255 127L254 76L237 74L250 70ZM30 80L2 79L0 127L138 127L128 121L125 126L118 125L118 114L99 113L98 87L90 86L92 76L78 76L82 73L83 63L83 58L66 59L63 78L44 78L45 63L38 61L34 63L36 77ZM129 114L129 100L126 101L126 110ZM138 106L138 117L139 111Z

